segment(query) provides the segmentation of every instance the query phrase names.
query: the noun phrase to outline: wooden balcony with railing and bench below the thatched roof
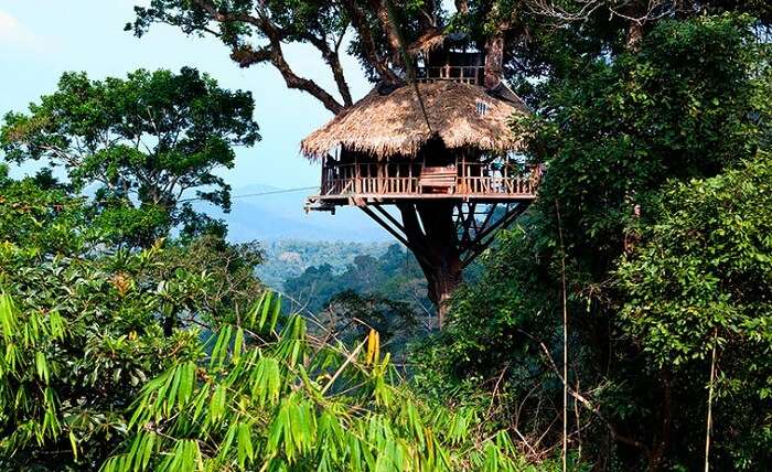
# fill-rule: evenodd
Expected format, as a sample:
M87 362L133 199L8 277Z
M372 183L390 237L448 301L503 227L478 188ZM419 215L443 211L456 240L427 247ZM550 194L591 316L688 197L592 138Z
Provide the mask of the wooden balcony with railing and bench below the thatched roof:
M493 171L483 164L442 168L412 163L362 163L325 167L320 194L311 200L332 204L444 199L462 202L529 201L542 172Z

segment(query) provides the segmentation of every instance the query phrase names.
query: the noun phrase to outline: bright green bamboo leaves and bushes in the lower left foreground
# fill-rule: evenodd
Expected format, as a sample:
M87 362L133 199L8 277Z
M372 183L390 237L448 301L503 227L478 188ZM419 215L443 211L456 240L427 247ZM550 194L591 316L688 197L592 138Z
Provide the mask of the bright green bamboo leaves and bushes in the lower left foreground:
M476 411L415 397L378 332L308 334L254 246L127 251L81 199L2 185L3 469L537 470Z

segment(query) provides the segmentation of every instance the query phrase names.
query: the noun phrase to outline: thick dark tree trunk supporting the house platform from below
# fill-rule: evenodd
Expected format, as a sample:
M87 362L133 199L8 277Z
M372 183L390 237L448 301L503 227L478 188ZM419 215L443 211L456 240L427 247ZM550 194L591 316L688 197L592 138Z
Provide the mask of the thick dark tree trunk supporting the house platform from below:
M410 249L426 276L429 300L437 307L438 326L442 329L448 300L463 275L453 204L419 202L398 207Z

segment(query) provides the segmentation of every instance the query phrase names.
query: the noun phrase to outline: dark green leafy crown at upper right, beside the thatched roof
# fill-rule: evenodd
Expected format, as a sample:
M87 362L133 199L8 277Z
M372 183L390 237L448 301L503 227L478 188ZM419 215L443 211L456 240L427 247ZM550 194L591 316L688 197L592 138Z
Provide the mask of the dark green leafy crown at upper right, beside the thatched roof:
M636 204L669 178L715 175L754 154L764 50L749 20L700 18L660 23L640 52L582 64L582 79L545 83L533 155L548 159L540 212L562 207L567 250L594 273L624 244ZM557 239L555 219L550 238Z

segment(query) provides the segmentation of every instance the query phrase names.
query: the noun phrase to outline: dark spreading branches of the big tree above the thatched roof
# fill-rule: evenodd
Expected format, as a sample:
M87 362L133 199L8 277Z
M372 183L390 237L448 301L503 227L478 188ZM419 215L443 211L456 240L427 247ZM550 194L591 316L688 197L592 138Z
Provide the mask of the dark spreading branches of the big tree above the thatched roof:
M137 19L127 30L141 36L153 23L179 26L187 34L210 34L230 49L242 67L271 64L289 88L312 95L333 114L353 100L341 55L355 55L373 82L399 84L405 79L405 47L437 33L453 19L436 0L153 0L136 7ZM501 67L503 40L514 23L511 12L500 13L495 0L457 2L457 26L474 33L481 47L492 52ZM496 26L487 28L491 24ZM342 51L351 33L347 51ZM313 78L298 75L285 56L289 43L303 43L319 51L330 68L336 90L326 90ZM495 49L491 44L496 44Z

